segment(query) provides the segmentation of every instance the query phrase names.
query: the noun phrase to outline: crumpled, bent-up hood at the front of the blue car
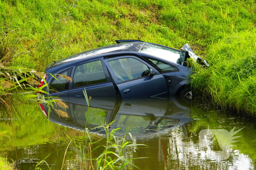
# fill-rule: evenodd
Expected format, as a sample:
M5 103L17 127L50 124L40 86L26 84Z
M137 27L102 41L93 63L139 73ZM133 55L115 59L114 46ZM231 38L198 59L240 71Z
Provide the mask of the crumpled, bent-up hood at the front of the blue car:
M202 59L201 57L197 56L193 50L189 47L188 43L185 44L181 48L181 54L180 54L180 64L183 66L184 62L188 59L192 58L195 62L199 62L199 64L204 65L204 66L209 66L209 64L206 62L206 60Z

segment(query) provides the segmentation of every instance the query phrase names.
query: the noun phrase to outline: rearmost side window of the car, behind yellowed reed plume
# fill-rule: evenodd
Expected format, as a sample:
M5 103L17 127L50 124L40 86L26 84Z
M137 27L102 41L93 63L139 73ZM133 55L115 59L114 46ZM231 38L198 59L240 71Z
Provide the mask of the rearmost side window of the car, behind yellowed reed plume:
M50 93L68 90L70 73L71 73L71 68L63 72L60 72L59 74L56 74L55 75L56 79L53 79L52 83L49 86Z

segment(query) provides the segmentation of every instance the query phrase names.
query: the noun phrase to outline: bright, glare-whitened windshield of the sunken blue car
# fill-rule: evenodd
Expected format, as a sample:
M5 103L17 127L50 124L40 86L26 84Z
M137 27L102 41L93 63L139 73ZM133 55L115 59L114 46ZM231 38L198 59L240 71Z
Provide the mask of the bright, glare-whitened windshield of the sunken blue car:
M167 61L178 63L180 51L176 51L167 47L157 46L155 44L146 43L140 52L150 54Z

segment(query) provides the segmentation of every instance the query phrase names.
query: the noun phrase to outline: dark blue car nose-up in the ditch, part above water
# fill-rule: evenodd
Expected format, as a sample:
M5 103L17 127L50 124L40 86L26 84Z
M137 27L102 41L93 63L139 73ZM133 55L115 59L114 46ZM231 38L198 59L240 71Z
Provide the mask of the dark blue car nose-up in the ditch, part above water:
M84 98L86 88L92 97L179 95L192 99L188 86L191 68L185 61L193 58L206 62L188 44L176 50L139 40L116 42L50 63L45 76L48 94L68 101Z

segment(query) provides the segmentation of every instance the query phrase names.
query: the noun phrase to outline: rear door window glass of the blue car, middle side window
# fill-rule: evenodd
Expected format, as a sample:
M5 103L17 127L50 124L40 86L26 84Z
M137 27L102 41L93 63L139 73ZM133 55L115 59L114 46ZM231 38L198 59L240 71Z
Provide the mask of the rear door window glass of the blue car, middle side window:
M73 78L75 87L104 83L107 81L101 60L81 64L76 67Z

